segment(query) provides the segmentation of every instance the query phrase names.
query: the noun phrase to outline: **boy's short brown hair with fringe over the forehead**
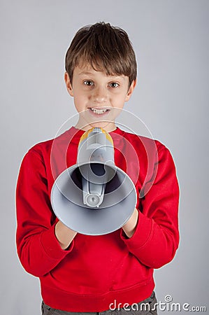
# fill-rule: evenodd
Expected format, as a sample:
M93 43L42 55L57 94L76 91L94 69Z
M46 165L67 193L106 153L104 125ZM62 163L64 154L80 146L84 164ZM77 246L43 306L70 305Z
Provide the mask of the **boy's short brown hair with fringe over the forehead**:
M129 77L129 85L136 79L136 57L126 31L109 23L87 25L77 31L66 52L65 69L72 82L75 66L90 64L107 75Z

